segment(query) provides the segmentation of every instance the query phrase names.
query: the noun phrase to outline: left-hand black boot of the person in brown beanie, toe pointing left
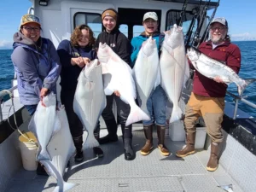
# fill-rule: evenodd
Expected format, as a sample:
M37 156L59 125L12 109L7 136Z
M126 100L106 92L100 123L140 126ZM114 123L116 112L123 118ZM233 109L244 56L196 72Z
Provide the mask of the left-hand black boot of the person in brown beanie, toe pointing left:
M117 142L119 139L116 134L117 133L117 124L116 124L115 119L113 118L113 119L105 120L105 124L107 126L108 135L100 138L99 143L102 145L105 143Z

